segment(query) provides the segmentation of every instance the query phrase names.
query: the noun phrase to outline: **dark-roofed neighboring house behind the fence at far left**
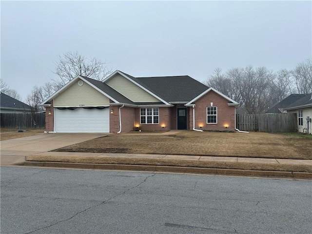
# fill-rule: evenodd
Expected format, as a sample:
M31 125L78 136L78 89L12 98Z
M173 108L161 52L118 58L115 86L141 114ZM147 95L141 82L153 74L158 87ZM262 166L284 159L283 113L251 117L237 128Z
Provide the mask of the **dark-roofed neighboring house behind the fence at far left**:
M26 113L31 107L15 98L1 93L0 112L1 113Z

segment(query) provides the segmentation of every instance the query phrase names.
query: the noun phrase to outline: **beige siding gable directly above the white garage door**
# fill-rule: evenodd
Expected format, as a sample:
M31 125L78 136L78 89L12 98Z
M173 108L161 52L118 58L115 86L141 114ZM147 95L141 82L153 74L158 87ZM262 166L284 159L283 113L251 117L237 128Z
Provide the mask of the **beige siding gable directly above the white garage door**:
M79 80L54 98L54 107L109 106L109 98L86 82L79 86Z

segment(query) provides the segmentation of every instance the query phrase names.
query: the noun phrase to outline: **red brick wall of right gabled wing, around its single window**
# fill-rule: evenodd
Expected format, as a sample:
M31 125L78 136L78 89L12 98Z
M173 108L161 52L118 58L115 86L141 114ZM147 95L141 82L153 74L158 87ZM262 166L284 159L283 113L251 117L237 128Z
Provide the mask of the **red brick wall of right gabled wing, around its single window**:
M207 124L207 107L217 107L217 124ZM235 107L228 106L229 101L214 91L210 91L205 96L195 102L195 129L235 131ZM193 107L190 107L190 126L193 129ZM202 128L200 128L202 126ZM227 126L227 128L225 127Z

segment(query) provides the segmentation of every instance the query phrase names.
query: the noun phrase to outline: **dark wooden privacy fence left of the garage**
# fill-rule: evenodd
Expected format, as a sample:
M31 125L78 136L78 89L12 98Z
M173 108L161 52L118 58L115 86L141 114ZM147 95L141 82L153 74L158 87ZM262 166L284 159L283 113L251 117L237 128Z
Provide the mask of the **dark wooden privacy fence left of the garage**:
M38 113L37 121L27 113L1 113L0 117L1 128L45 128L45 113Z

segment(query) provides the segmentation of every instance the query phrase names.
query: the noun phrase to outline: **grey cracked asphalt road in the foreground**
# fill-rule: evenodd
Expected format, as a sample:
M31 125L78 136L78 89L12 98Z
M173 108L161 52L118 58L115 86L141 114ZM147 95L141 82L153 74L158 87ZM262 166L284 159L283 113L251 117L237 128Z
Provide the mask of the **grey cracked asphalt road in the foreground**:
M312 181L1 167L1 234L312 232Z

